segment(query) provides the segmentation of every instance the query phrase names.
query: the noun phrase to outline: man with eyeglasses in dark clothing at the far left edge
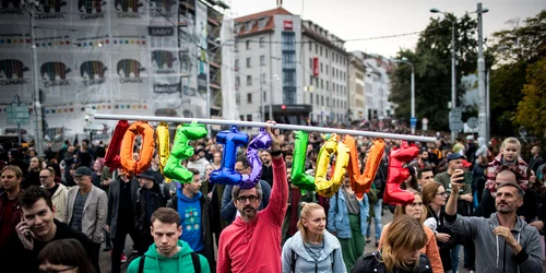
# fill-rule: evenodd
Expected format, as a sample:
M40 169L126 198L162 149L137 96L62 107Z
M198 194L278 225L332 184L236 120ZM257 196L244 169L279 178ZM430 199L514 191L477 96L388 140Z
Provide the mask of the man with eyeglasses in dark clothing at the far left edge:
M17 166L8 165L2 168L1 181L4 191L0 194L0 252L21 222L17 198L22 180L23 171Z

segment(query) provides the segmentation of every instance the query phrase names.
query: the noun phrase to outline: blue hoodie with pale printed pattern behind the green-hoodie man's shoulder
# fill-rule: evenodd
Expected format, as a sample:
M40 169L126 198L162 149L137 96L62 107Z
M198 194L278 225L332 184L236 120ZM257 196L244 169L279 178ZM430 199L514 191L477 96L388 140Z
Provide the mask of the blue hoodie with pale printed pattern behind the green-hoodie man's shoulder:
M203 250L203 236L201 235L201 203L199 199L203 193L199 192L189 199L182 193L182 188L177 190L178 214L180 215L180 226L182 235L180 239L187 241L195 252Z

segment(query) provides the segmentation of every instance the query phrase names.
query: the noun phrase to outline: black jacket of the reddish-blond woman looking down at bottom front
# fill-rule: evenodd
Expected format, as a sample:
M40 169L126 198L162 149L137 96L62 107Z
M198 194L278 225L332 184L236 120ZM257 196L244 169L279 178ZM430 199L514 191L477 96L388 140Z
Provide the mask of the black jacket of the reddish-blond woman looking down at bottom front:
M367 272L373 272L373 273L384 273L387 272L387 269L384 268L384 263L380 262L381 260L381 253L380 252L373 252L373 253L368 253L365 256L361 256L358 258L355 262L355 265L353 265L353 269L351 270L351 273L367 273ZM419 257L419 265L417 266L416 271L406 271L406 270L400 270L400 269L394 269L391 271L392 273L432 273L432 266L430 266L430 261L428 261L428 258L425 254L420 254Z

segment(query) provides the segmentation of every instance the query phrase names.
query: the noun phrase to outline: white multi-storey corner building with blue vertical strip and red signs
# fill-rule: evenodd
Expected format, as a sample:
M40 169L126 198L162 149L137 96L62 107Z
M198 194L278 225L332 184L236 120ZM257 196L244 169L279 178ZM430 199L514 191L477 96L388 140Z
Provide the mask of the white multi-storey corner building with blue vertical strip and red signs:
M348 120L344 40L283 8L238 17L235 32L241 120Z

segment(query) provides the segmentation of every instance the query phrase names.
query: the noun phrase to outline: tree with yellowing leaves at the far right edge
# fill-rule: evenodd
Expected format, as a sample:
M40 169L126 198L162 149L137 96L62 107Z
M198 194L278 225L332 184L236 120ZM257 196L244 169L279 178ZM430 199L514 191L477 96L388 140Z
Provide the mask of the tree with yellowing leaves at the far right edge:
M515 132L519 103L523 98L529 67L546 57L546 10L523 21L511 21L513 27L492 35L488 52L495 56L490 74L491 133L511 135Z

